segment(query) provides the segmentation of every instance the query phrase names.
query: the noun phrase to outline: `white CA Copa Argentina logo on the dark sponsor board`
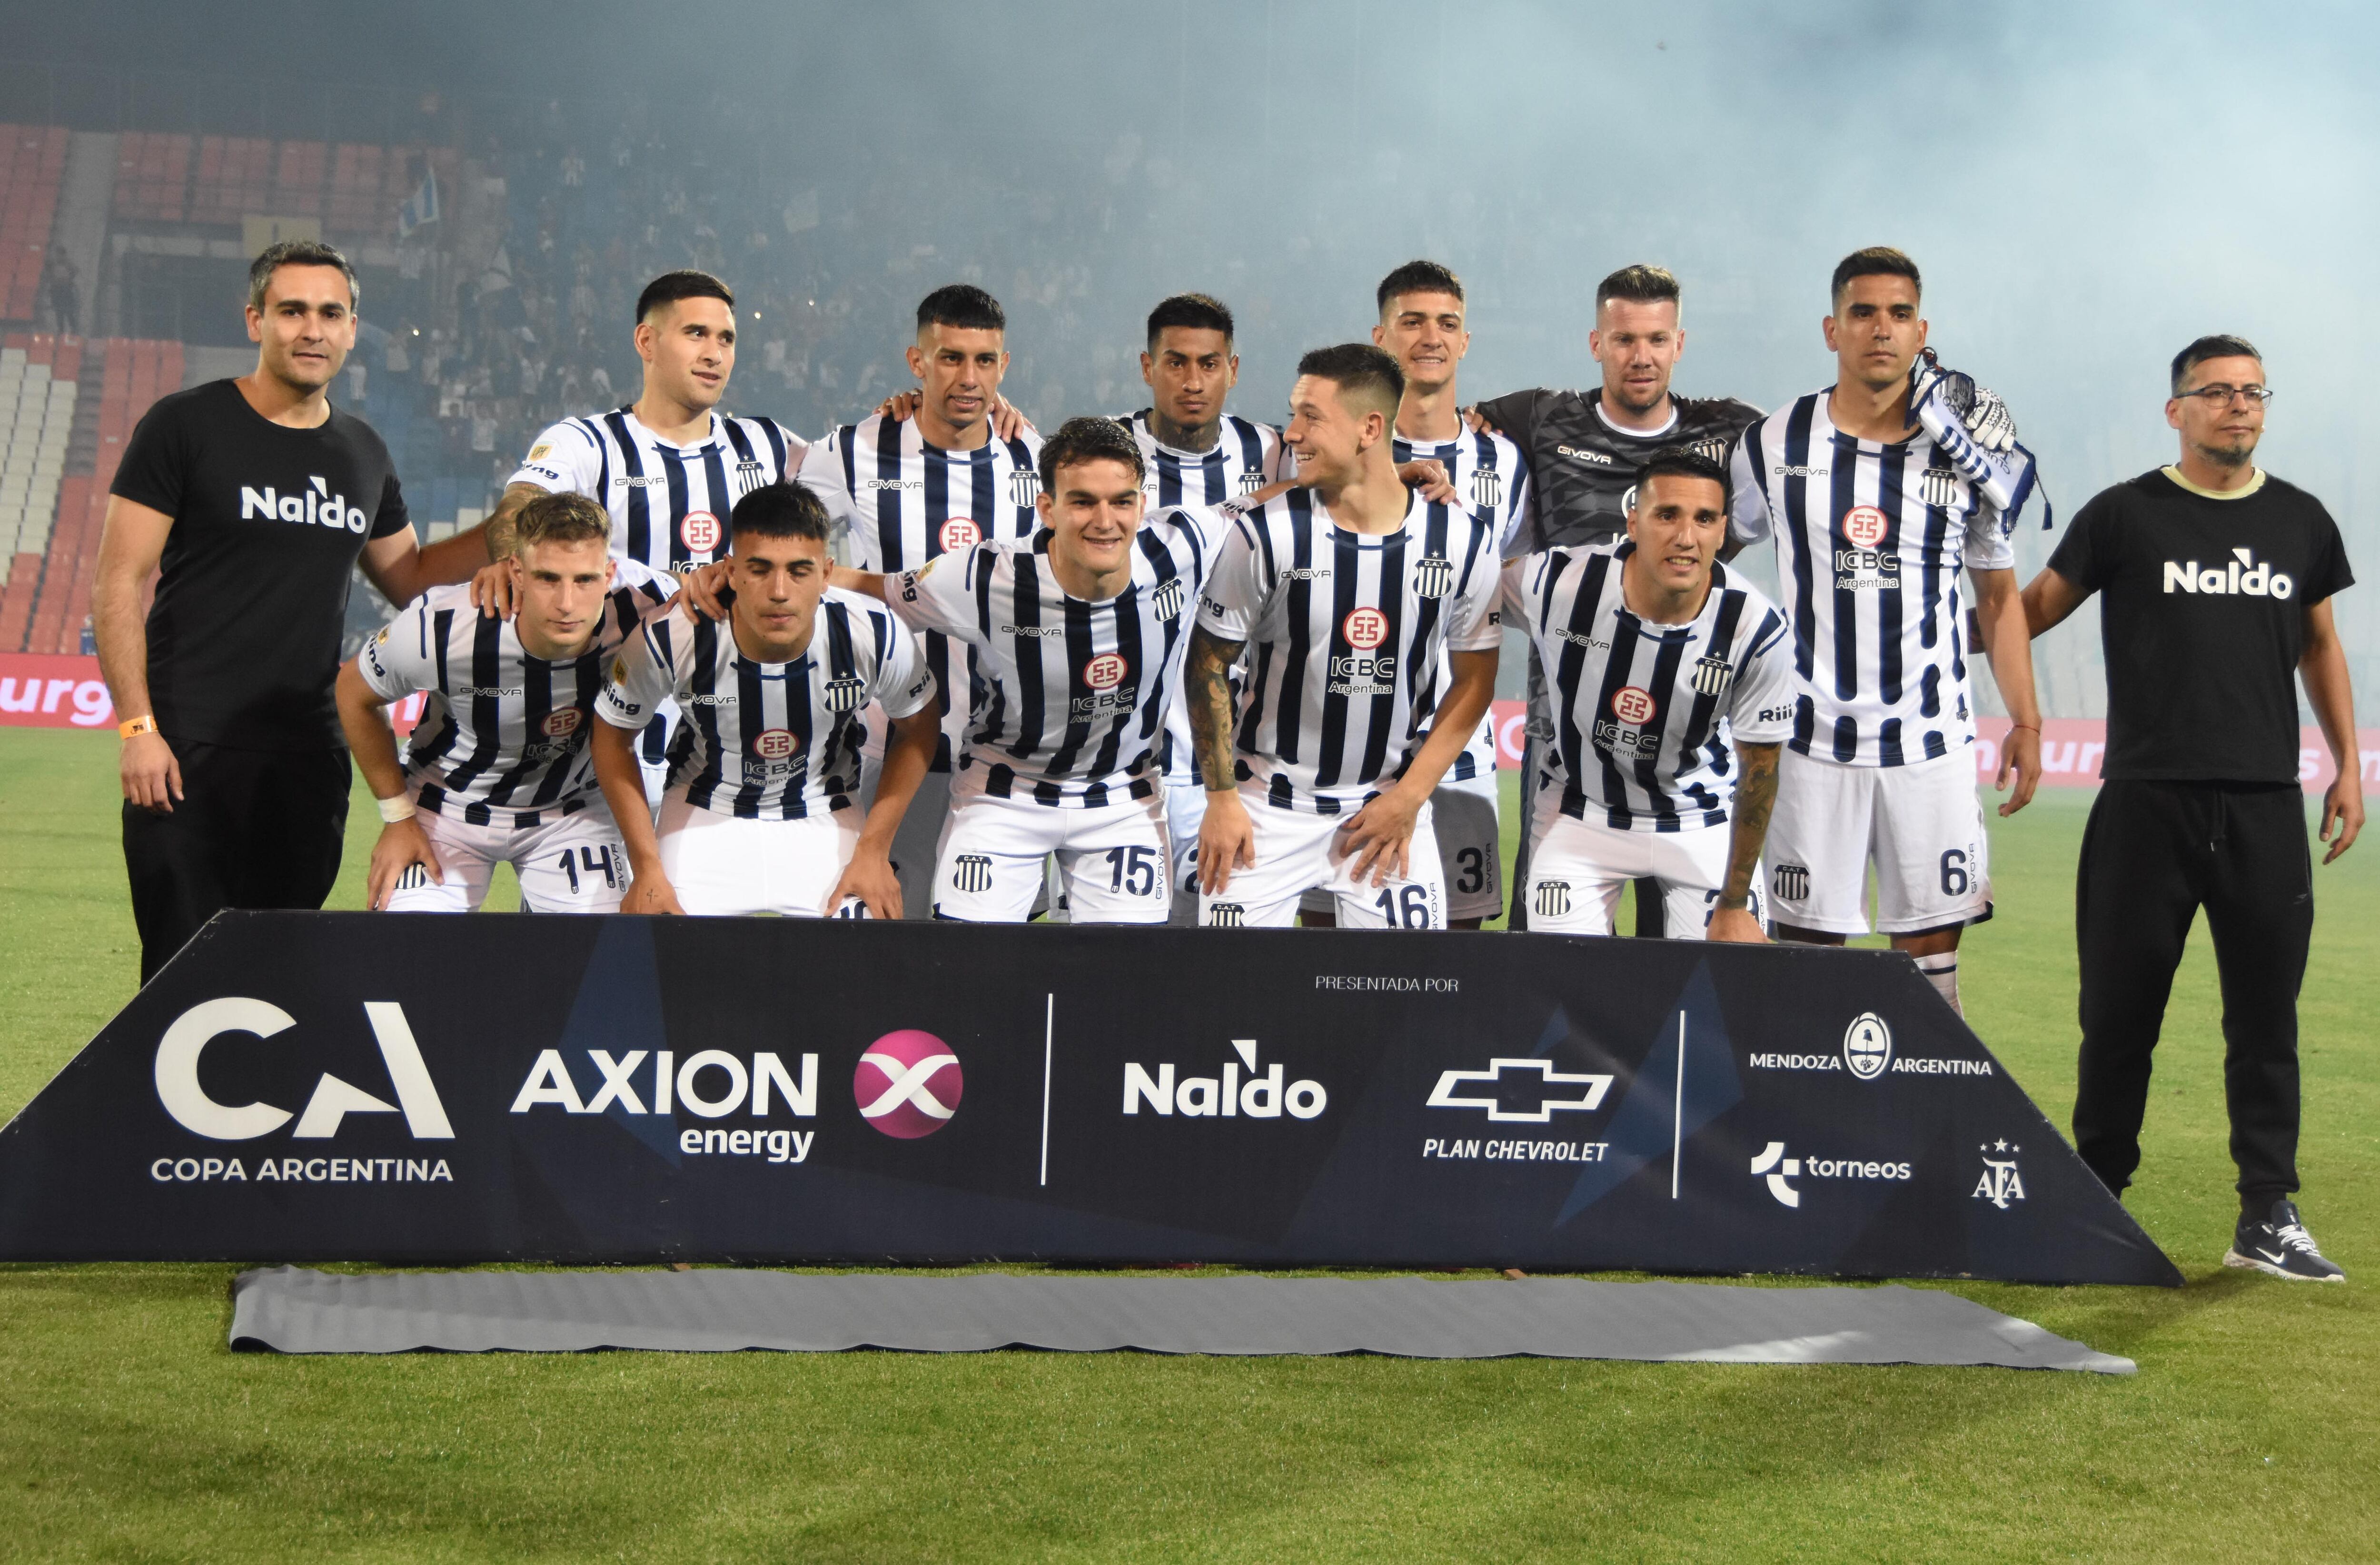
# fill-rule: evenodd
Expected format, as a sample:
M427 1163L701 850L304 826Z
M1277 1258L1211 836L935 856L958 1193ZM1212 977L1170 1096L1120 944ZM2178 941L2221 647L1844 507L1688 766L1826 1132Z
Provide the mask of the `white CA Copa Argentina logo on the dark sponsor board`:
M405 1020L405 1008L395 1001L364 1001L364 1020L371 1039L381 1049L381 1066L388 1070L388 1092L397 1101L364 1092L355 1082L321 1073L302 1111L278 1104L221 1104L200 1082L200 1058L209 1044L231 1032L248 1032L257 1039L278 1037L298 1025L298 1018L267 999L226 994L190 1006L157 1039L152 1077L157 1101L176 1125L209 1142L255 1142L269 1137L290 1120L293 1142L328 1142L338 1135L350 1113L397 1113L416 1142L452 1142L455 1125L447 1120L438 1087L428 1066L421 1063L421 1047ZM150 1177L159 1182L212 1182L248 1180L243 1158L157 1158ZM452 1182L455 1173L445 1158L257 1158L257 1180L302 1180L333 1184L374 1182Z

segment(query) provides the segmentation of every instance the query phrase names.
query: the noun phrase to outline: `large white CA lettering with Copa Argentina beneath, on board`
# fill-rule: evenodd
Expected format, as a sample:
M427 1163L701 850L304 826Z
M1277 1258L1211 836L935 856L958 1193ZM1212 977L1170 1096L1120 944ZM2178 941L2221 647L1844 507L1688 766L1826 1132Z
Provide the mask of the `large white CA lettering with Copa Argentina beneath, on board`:
M176 1016L157 1039L152 1066L157 1101L190 1135L226 1146L221 1149L224 1156L169 1154L152 1158L148 1165L150 1177L159 1184L262 1180L305 1184L452 1182L452 1168L443 1156L436 1156L445 1149L419 1146L419 1142L452 1142L455 1127L447 1120L445 1104L438 1099L438 1087L431 1082L428 1066L421 1063L421 1047L405 1020L405 1008L395 1001L364 1001L364 1025L378 1049L383 1080L371 1082L374 1089L367 1089L343 1075L321 1070L314 1075L314 1087L305 1096L305 1106L293 1113L262 1096L245 1104L226 1104L217 1092L238 1096L226 1089L226 1080L255 1077L259 1070L278 1070L286 1077L290 1063L288 1044L305 1049L319 1039L288 1039L288 1044L262 1056L257 1044L278 1039L298 1027L295 1016L269 999L245 994L209 999ZM233 1044L233 1037L243 1042ZM207 1080L202 1080L202 1066ZM214 1082L212 1092L209 1080ZM388 1096L381 1096L381 1092ZM326 1142L336 1142L350 1118L378 1113L400 1115L405 1125L407 1144L397 1149L397 1156L352 1156L359 1151L352 1146L340 1146L340 1156L331 1156L333 1146L326 1146ZM271 1146L233 1154L231 1144L262 1142L283 1130L288 1130L290 1144L305 1144L295 1146L300 1156L276 1156Z

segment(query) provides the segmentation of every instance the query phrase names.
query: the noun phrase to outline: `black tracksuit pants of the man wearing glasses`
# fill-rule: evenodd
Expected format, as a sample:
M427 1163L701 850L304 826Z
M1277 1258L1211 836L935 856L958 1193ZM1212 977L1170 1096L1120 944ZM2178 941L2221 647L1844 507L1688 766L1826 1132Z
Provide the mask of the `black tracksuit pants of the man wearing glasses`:
M2297 989L2313 935L2306 804L2287 783L2099 787L2075 875L2075 1151L2109 1189L2132 1182L2149 1054L2202 906L2223 980L2230 1154L2242 1206L2263 1211L2297 1189Z

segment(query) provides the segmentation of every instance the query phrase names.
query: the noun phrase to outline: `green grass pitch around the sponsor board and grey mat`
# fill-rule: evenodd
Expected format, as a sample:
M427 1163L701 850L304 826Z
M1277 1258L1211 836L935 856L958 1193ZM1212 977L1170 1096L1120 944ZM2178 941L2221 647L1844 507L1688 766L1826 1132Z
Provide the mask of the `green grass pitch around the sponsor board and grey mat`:
M1968 1013L2063 1123L2087 797L1997 823ZM357 811L333 906L357 906ZM2306 1208L2216 1265L2204 942L2135 1211L2166 1289L1959 1291L2140 1360L2011 1370L1138 1353L233 1356L224 1265L0 1268L0 1553L55 1560L2304 1558L2380 1551L2380 842L2320 871ZM133 989L114 747L0 730L0 1106Z

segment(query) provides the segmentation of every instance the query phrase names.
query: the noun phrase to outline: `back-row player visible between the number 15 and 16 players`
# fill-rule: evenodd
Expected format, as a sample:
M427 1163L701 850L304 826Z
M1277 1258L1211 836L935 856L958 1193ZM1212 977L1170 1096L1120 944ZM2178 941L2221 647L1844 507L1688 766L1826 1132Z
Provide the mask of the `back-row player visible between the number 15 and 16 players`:
M1233 319L1223 300L1176 293L1150 312L1140 378L1150 404L1119 419L1140 442L1140 492L1147 514L1195 504L1219 509L1247 499L1280 478L1280 430L1223 411L1240 381ZM1190 742L1190 704L1180 690L1166 711L1159 749L1166 773L1166 835L1173 859L1176 923L1197 916L1197 828L1207 818L1207 787Z

